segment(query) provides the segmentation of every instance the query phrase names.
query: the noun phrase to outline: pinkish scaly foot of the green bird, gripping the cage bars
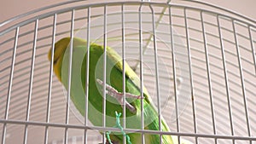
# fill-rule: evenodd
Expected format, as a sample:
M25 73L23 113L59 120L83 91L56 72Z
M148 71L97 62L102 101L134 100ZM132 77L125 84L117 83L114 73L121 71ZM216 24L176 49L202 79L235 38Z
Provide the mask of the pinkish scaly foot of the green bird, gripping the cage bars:
M103 82L101 79L96 79L98 84L101 84L103 86ZM117 101L119 101L119 104L124 108L124 94L119 93L117 89L114 89L112 86L106 84L106 94L114 97ZM133 95L131 93L125 93L125 97L127 98L133 98L133 99L143 99L144 97L141 97L141 95ZM130 112L136 113L137 109L133 107L128 101L125 101L125 107L129 109Z

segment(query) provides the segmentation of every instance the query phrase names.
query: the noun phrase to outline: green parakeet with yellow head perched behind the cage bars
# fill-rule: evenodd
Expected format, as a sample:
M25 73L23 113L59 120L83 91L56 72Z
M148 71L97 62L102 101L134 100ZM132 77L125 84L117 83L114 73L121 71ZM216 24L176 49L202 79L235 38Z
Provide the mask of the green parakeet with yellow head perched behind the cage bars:
M65 37L55 43L54 72L61 84L68 89L68 70L70 57L70 37ZM51 61L52 49L49 49L48 58ZM104 63L104 47L96 43L90 43L89 57L89 85L86 82L87 43L84 39L73 37L73 54L71 69L70 99L74 106L84 116L85 112L85 86L88 86L88 118L95 126L103 126L103 78L106 78L106 127L116 124L116 112L123 112L123 64L122 58L116 51L106 48L106 61ZM104 76L104 64L106 75ZM125 62L125 128L141 130L141 101L143 101L143 118L145 130L160 130L159 115L153 101L143 87L143 96L140 95L140 80L137 74ZM123 118L120 118L122 124ZM162 131L170 131L164 118L161 118ZM142 143L140 133L127 133L132 144ZM114 144L123 143L121 133L108 135ZM161 135L163 144L177 143L177 136ZM160 143L160 135L144 134L145 144ZM108 143L109 141L107 141ZM181 140L181 143L189 144L189 141Z

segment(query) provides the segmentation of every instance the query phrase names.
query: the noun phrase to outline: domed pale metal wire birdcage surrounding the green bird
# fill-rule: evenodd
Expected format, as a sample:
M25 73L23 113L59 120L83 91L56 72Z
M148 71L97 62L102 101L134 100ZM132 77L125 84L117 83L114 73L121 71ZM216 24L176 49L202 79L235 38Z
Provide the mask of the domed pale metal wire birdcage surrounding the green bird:
M121 124L125 132L177 135L192 143L256 143L255 27L241 14L197 1L68 1L4 21L0 140L106 141L99 131L113 128L84 119L47 58L62 37L81 37L107 43L143 76L171 129L129 131Z

